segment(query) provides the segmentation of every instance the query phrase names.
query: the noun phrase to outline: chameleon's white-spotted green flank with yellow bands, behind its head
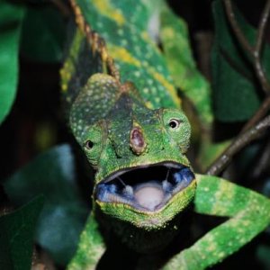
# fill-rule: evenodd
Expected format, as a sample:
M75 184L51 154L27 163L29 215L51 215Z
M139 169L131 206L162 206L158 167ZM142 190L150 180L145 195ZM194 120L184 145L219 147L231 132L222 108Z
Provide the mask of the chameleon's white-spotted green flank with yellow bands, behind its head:
M148 24L159 1L71 0L76 22L80 29L94 41L94 48L103 59L104 73L121 81L132 81L149 108L179 107L180 100L166 67L166 62L150 39ZM132 8L130 8L132 5ZM90 26L91 27L90 27ZM115 65L112 62L115 63ZM117 67L117 68L116 68ZM119 70L119 72L118 72Z

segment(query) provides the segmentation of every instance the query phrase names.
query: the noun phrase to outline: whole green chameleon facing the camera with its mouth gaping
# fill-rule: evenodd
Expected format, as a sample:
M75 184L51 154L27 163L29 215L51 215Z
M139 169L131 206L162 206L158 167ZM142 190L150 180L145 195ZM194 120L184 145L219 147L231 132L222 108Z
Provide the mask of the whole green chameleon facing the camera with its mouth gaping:
M68 269L94 269L108 235L134 252L165 250L185 228L185 210L228 219L161 265L145 268L217 264L266 229L270 202L193 172L185 157L191 127L166 61L148 34L162 3L71 4L78 27L61 70L62 92L70 128L95 177L93 211Z

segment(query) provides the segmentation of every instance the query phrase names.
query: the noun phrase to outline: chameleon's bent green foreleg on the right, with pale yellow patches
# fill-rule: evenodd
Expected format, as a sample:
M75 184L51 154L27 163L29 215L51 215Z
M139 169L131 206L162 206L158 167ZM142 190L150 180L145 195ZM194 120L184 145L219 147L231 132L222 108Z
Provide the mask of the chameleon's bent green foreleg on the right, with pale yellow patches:
M270 201L219 177L196 175L195 211L229 220L211 229L192 247L172 258L164 269L205 269L244 246L270 222Z

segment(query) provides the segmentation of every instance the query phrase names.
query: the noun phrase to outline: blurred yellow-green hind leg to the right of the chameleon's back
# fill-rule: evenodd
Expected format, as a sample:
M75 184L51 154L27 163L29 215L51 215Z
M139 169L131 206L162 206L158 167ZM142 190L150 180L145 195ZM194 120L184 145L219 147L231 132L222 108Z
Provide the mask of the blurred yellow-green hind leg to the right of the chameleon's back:
M202 123L211 124L210 85L196 67L186 23L167 6L161 13L161 40L175 85L193 103Z

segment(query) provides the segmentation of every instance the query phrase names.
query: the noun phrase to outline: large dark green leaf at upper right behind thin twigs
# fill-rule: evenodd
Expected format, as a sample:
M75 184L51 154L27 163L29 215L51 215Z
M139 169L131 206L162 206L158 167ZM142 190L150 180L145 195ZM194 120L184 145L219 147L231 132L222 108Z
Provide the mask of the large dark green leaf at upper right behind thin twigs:
M256 31L234 7L238 23L253 44ZM220 121L246 121L258 109L257 78L247 54L240 48L229 27L222 1L212 4L215 39L211 55L213 105Z

